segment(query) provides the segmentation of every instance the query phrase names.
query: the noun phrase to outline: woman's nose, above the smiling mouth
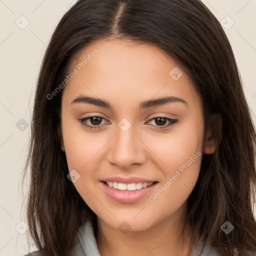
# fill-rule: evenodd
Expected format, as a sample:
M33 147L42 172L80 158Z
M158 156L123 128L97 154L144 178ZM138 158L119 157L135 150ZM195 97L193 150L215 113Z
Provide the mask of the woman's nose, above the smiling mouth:
M133 126L126 131L117 127L108 149L108 162L121 169L128 169L132 164L142 164L146 160L146 145L134 133Z

